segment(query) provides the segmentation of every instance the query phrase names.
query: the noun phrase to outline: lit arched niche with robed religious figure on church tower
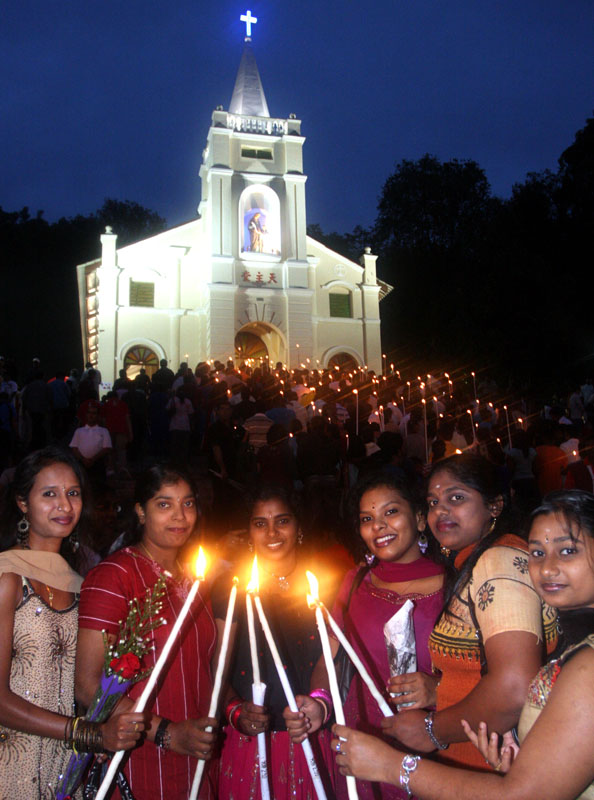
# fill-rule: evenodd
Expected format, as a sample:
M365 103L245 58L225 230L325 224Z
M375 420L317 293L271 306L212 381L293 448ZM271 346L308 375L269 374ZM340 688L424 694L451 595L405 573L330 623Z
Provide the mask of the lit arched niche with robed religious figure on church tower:
M242 253L280 256L280 201L268 186L249 186L239 201Z

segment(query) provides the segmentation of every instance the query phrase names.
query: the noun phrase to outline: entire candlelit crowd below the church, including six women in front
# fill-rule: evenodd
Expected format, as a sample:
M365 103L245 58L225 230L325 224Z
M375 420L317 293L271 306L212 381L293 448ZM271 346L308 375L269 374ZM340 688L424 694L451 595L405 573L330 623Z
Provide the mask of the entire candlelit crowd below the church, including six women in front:
M316 796L306 739L328 798L351 798L353 780L369 800L594 798L590 380L537 406L470 376L348 365L161 362L113 386L90 364L47 381L35 360L22 383L0 370L6 795L54 798L86 748L100 767L127 751L116 798L185 800L200 760L201 800L260 798L264 737L276 800ZM134 711L139 680L87 720L130 604L161 582L172 624L199 543L208 578L147 710ZM262 630L250 635L254 556L296 711ZM346 720L333 724L308 569L393 714L332 636ZM168 626L152 635L147 669Z

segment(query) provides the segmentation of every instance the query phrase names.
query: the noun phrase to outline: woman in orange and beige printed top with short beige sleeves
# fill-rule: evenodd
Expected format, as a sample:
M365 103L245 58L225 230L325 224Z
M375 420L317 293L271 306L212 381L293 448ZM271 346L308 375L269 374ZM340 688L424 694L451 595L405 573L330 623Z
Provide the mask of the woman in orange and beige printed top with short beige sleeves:
M473 727L486 720L501 732L517 724L545 643L555 641L555 614L541 607L532 585L526 542L504 533L504 499L488 461L465 454L438 462L427 504L428 524L450 563L445 607L429 640L440 676L437 711L412 710L382 726L406 747L484 769L460 719Z

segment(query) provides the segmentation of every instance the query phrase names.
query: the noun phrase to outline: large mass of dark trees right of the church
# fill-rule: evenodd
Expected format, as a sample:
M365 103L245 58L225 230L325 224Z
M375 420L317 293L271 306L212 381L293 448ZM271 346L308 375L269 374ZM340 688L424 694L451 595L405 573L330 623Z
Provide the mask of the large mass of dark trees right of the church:
M415 374L473 364L503 385L594 372L592 219L594 119L556 172L529 173L507 200L474 161L401 161L365 232L395 287L381 306L383 350ZM314 228L339 252L358 247L357 260L360 239Z

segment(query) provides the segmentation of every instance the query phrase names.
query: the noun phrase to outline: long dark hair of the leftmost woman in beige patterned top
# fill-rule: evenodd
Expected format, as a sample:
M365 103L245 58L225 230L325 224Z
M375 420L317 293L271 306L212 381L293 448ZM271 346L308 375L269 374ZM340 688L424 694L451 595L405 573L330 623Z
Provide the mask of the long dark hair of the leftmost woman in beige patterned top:
M71 453L62 450L59 447L50 446L44 447L42 450L35 450L29 453L28 456L20 462L17 466L12 483L9 490L5 495L2 510L2 522L0 533L0 550L8 550L14 547L17 543L17 523L23 516L23 512L17 505L17 500L29 500L31 489L35 483L35 479L42 469L49 467L52 464L65 464L74 472L76 479L80 486L82 511L80 519L73 529L70 536L62 541L60 546L60 555L70 564L73 569L78 566L77 554L72 549L71 536L76 534L82 535L82 532L88 526L89 519L89 490L88 483L80 463L74 458Z

